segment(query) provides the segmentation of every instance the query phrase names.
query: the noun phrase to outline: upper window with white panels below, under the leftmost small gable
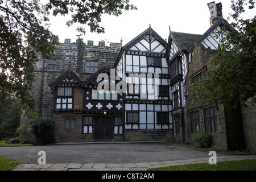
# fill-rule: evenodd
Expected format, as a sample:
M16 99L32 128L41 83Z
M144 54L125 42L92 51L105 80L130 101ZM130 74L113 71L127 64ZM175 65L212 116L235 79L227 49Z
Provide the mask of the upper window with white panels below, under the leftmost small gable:
M58 87L56 109L73 109L73 88Z

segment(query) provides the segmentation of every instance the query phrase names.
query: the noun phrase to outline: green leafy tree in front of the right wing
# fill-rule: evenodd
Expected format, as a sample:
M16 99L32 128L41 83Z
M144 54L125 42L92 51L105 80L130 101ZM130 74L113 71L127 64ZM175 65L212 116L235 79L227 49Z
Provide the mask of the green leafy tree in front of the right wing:
M213 69L206 71L198 84L193 85L195 98L203 102L237 107L253 97L256 98L256 16L242 19L245 6L254 8L253 1L232 1L234 22L223 27L224 38L213 57Z

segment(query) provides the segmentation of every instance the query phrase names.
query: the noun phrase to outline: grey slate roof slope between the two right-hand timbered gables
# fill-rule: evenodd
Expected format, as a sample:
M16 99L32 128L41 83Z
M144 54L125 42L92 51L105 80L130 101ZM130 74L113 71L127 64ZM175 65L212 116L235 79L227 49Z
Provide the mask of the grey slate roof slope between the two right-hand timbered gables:
M202 35L199 34L187 34L182 32L170 32L172 40L174 40L176 46L181 51L188 51L188 49L200 39Z

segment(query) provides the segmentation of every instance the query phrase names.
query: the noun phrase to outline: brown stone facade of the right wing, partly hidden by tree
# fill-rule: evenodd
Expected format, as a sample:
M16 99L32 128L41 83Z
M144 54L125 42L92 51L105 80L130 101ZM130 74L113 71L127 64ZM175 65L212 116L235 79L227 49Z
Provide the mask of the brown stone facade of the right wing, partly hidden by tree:
M189 141L192 141L192 138L197 133L192 133L191 129L191 113L193 111L199 111L200 117L200 131L207 131L207 126L204 118L204 109L212 106L217 108L217 133L211 133L213 139L213 147L227 149L227 140L226 140L226 123L225 123L225 114L224 108L222 105L212 105L212 104L202 104L201 99L195 100L192 91L193 78L195 78L200 72L213 68L212 65L212 50L210 48L205 49L202 44L197 45L192 52L191 63L188 64L188 74L186 82L184 83L185 92L188 92L187 97L187 110L188 110L188 129L189 129ZM188 133L186 133L187 135Z

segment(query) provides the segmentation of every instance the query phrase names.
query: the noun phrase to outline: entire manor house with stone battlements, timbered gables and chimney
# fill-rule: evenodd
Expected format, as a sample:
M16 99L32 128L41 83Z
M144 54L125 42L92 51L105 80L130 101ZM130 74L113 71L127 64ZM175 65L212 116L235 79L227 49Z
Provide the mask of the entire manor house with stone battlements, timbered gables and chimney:
M170 30L166 41L150 26L125 46L88 41L83 47L65 39L52 60L38 53L31 94L40 117L56 122L57 142L191 142L207 131L215 147L255 149L255 117L248 117L254 106L237 115L193 98L192 84L214 67L221 28L230 26L221 3L208 7L210 28L203 35Z

